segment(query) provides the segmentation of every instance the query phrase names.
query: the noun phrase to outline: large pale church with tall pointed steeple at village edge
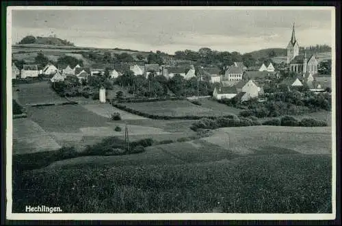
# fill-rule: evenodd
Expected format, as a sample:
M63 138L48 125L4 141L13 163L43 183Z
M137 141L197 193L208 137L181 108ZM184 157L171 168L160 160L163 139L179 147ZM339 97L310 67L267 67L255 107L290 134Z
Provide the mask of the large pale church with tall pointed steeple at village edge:
M291 40L289 41L289 45L287 45L287 65L289 66L289 71L301 75L317 74L317 54L307 58L306 53L304 53L304 55L299 55L299 48L298 41L295 39L295 23L293 23Z

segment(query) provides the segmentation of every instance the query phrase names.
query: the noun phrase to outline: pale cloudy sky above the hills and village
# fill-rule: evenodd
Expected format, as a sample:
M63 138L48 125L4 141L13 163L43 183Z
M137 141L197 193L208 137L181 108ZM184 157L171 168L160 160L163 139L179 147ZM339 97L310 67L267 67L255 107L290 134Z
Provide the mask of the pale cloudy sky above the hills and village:
M51 7L50 7L51 8ZM312 9L312 8L311 8ZM330 45L327 10L13 10L12 43L27 35L74 42L79 47L139 51L217 51L247 53L286 48L295 23L301 47Z

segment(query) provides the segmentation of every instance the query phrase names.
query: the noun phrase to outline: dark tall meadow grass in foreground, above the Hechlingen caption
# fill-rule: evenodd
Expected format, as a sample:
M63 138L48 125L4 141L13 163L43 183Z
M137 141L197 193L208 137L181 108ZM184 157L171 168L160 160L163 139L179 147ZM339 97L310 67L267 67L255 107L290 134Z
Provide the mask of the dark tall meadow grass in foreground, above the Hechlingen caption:
M330 155L50 169L26 171L13 181L13 212L44 203L73 213L332 211L324 210L331 199Z

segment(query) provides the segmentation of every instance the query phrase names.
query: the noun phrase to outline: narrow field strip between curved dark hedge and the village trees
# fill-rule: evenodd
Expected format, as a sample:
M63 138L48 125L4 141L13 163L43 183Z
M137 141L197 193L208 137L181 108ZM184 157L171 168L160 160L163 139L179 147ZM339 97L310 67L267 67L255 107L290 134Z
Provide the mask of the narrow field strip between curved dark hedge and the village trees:
M128 108L140 112L162 116L223 116L237 114L239 110L225 105L216 105L210 100L202 100L204 105L195 105L190 101L156 101L148 103L122 103ZM213 107L215 105L215 107ZM224 108L225 110L223 110Z

